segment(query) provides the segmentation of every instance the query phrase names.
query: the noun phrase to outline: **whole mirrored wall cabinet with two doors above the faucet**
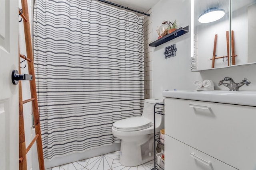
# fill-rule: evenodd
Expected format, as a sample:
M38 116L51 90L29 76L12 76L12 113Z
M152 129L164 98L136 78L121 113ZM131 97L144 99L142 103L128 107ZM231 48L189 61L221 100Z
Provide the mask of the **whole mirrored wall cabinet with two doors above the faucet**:
M255 6L256 0L192 1L194 47L191 48L191 70L256 63ZM218 10L224 13L222 18L208 23L198 21L202 14Z

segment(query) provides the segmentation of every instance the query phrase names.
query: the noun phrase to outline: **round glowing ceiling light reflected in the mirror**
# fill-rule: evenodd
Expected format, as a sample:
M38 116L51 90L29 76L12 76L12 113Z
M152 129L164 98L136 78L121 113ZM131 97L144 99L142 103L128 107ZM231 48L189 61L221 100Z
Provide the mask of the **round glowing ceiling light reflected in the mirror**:
M198 21L201 23L209 23L217 21L225 15L225 10L220 8L210 8L201 14Z

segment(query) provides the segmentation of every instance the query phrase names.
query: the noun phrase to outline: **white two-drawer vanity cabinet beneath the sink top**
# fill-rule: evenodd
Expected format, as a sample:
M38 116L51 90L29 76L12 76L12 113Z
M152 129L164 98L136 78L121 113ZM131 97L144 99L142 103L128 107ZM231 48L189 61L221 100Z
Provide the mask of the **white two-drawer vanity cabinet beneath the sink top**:
M165 98L165 169L256 170L256 107Z

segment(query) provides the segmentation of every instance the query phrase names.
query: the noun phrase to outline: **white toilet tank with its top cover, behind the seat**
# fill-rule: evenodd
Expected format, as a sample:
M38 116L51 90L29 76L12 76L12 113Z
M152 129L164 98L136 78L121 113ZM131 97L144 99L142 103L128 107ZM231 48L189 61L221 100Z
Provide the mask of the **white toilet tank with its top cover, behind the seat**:
M154 123L154 105L156 103L163 103L163 100L160 99L145 99L144 107L142 112L142 117L146 117Z

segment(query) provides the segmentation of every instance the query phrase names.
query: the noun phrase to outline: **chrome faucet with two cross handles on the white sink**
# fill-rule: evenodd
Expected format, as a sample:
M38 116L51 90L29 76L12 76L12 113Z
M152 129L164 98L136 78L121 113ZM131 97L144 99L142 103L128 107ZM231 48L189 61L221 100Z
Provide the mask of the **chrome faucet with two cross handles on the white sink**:
M229 81L230 83L224 83L223 81ZM246 84L246 86L249 86L250 83L251 82L247 80L247 78L244 78L240 83L235 83L232 78L225 77L224 80L220 80L218 86L223 85L228 87L230 91L237 91L242 85Z

